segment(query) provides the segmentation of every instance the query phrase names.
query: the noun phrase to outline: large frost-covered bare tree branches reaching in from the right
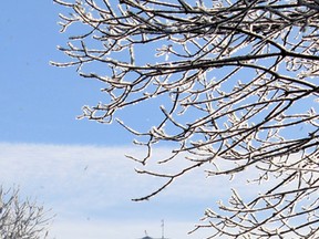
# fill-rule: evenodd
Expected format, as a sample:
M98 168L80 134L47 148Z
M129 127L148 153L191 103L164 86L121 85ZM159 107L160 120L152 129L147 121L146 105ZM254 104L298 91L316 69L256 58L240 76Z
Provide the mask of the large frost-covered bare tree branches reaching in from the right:
M104 84L83 117L135 134L147 153L131 158L145 167L155 144L173 147L158 172L138 170L167 183L136 200L198 167L214 179L253 170L260 191L233 189L198 228L210 238L318 238L318 0L54 2L69 8L61 27L72 37L60 50L72 60L52 64ZM132 128L117 113L136 104L162 118ZM177 158L186 163L172 173Z

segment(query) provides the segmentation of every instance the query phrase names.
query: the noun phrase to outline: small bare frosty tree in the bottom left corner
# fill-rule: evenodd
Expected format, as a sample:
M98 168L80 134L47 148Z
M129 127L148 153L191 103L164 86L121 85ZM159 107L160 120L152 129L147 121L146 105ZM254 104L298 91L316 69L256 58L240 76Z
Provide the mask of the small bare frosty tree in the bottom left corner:
M22 201L18 189L0 187L0 239L48 238L51 219L37 202Z

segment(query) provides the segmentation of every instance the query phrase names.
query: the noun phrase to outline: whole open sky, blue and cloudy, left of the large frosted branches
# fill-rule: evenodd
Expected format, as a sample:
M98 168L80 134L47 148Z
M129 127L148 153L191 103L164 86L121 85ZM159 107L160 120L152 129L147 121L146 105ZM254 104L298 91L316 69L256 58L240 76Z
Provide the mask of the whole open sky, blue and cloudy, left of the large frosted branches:
M52 208L58 216L51 236L58 239L128 239L144 230L160 237L162 219L172 239L207 235L186 237L205 207L224 194L226 179L207 183L204 174L191 175L151 201L132 202L158 181L134 173L136 165L124 153L136 148L122 127L75 119L82 105L101 100L101 85L80 79L74 69L49 64L65 60L56 50L66 42L56 24L61 7L11 0L1 8L2 185L20 185L22 196Z

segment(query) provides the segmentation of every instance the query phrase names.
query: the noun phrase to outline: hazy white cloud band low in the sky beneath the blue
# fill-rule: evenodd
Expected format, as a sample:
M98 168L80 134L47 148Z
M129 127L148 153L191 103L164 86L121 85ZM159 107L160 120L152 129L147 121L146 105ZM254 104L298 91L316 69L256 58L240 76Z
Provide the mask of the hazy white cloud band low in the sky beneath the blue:
M161 148L154 157L168 152ZM229 178L207 179L198 169L152 200L133 202L132 198L145 196L161 181L137 175L134 167L138 165L125 153L142 155L125 146L0 143L0 181L4 187L19 185L22 196L52 208L58 215L52 236L58 239L128 239L142 237L144 230L160 236L162 218L167 220L167 236L172 239L204 238L207 232L203 237L186 233L206 207L227 197ZM173 164L172 172L181 166ZM245 187L245 178L237 178L235 184Z

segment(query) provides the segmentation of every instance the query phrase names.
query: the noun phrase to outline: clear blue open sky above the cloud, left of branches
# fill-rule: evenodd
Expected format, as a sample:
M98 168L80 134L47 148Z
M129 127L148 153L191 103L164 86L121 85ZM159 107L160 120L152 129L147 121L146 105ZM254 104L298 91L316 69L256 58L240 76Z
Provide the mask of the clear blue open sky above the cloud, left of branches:
M75 121L84 104L103 95L101 84L75 69L49 64L68 61L56 50L66 43L56 23L64 9L51 0L3 1L1 9L0 142L128 144L132 136L119 125Z

